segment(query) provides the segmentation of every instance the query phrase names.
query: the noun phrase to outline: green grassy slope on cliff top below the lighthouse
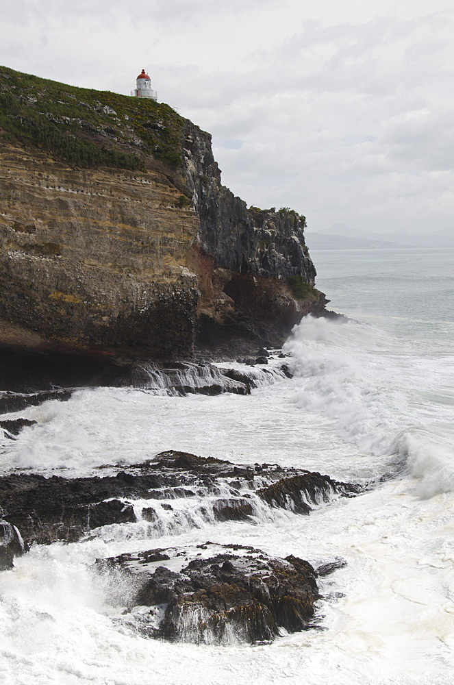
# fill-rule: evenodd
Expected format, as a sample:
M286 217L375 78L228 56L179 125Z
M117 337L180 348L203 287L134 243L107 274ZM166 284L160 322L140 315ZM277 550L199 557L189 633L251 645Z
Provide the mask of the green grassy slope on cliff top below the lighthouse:
M66 86L0 66L0 141L71 166L179 166L183 117L164 103Z

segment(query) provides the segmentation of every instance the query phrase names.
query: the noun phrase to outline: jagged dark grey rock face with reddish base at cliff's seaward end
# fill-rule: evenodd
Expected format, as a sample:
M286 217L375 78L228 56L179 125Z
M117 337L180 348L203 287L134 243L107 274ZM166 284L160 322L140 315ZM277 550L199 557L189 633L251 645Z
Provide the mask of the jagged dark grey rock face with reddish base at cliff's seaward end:
M247 208L220 182L211 136L189 121L183 143L188 186L200 220L190 263L199 277L201 347L223 349L241 330L280 344L310 312L325 311L325 295L297 299L288 278L314 286L316 270L305 244L305 217L285 208Z

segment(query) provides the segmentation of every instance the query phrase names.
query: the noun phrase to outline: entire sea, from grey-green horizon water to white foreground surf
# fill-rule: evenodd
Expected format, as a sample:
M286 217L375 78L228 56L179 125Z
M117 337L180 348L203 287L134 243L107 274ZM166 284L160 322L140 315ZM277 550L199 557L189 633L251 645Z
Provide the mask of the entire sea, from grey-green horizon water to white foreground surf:
M3 472L115 472L164 449L278 462L369 486L310 516L255 523L181 516L159 538L124 524L34 546L0 573L0 682L44 685L448 685L454 678L454 251L318 251L318 288L349 321L304 319L286 343L294 377L249 396L80 389L14 416ZM192 504L194 506L194 504ZM187 514L188 512L186 512ZM318 630L272 645L165 643L121 621L96 558L168 545L244 543L314 565Z

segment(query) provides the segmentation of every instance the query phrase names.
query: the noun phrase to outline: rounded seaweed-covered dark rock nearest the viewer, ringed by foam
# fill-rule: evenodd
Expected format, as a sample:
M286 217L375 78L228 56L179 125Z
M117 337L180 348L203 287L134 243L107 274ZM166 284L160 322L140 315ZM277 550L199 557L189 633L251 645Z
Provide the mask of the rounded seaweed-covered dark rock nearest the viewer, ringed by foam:
M181 569L158 565L163 559ZM310 627L319 598L311 564L295 556L270 558L242 545L206 543L97 562L101 573L116 566L138 587L125 620L144 634L168 640L270 642L282 629Z

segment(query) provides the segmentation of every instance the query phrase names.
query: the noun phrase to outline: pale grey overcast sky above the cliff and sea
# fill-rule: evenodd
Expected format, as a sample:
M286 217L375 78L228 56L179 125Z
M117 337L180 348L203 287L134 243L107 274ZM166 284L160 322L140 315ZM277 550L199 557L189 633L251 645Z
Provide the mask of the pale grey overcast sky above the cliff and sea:
M454 227L453 0L2 0L0 64L158 100L310 229Z

